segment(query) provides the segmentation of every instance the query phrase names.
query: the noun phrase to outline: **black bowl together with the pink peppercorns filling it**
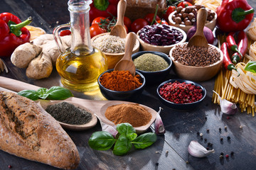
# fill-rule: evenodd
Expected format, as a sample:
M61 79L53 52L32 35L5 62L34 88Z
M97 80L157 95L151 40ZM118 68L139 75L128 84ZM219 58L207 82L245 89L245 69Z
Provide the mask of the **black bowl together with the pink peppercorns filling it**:
M196 108L206 98L203 86L183 79L164 81L156 91L162 103L178 110Z

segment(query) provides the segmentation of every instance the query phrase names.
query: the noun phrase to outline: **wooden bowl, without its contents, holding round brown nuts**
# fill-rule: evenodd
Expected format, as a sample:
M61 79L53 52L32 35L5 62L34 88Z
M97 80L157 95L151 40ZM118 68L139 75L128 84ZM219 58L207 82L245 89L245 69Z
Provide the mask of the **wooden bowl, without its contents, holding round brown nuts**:
M215 11L213 11L215 13ZM168 19L169 19L169 24L170 26L175 26L177 28L181 28L181 30L185 31L185 33L188 33L188 30L190 28L192 28L193 26L185 26L185 25L181 25L181 24L176 24L173 20L172 20L172 16L174 15L174 13L176 13L176 11L172 12ZM206 27L210 28L210 30L213 30L216 26L216 22L217 22L217 13L215 13L215 17L213 18L212 21L206 23Z

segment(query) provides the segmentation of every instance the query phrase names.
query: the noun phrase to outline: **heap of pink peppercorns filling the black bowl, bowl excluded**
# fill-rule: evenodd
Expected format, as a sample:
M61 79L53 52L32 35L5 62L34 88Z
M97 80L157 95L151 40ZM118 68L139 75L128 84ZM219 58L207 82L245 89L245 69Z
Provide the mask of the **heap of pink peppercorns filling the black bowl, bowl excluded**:
M193 103L203 98L203 90L193 84L180 83L175 81L161 86L159 94L167 101L173 103Z

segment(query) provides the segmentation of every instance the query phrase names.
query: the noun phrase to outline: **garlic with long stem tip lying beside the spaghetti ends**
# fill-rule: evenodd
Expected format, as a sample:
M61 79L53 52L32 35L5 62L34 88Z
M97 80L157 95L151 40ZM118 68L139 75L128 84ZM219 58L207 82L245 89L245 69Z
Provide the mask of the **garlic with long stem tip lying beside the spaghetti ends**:
M213 91L215 94L216 91ZM236 112L238 112L238 107L235 105L235 103L232 103L230 101L227 101L225 98L222 99L219 94L218 99L220 100L220 109L223 113L227 115L234 115Z

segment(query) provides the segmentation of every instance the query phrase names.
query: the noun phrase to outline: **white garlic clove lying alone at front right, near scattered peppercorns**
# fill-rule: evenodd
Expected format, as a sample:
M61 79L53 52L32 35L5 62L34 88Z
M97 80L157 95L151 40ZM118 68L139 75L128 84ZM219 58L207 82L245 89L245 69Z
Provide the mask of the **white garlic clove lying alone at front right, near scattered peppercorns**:
M188 153L191 154L193 157L206 157L208 156L208 154L214 153L214 149L207 150L196 140L192 140L188 145Z

